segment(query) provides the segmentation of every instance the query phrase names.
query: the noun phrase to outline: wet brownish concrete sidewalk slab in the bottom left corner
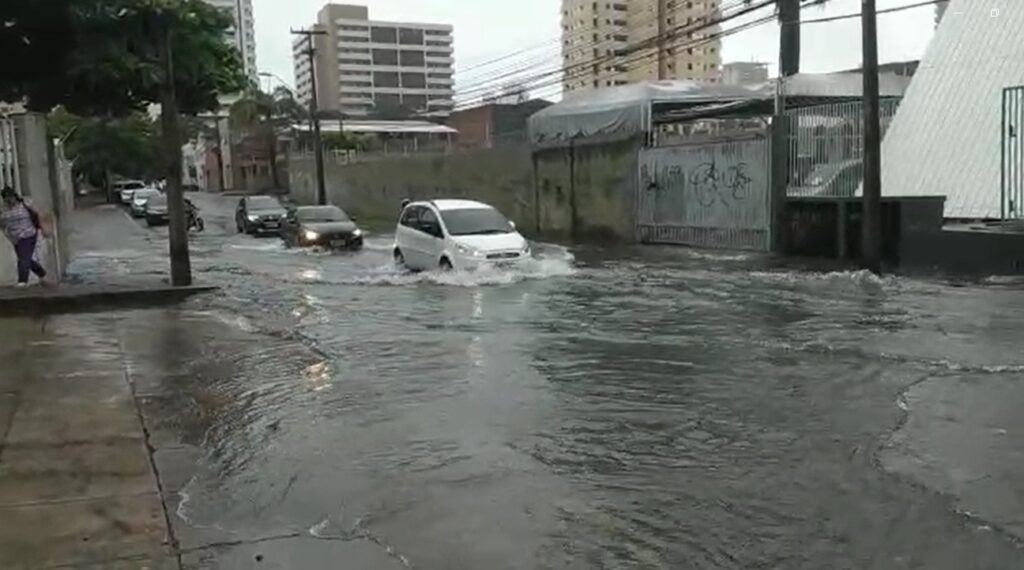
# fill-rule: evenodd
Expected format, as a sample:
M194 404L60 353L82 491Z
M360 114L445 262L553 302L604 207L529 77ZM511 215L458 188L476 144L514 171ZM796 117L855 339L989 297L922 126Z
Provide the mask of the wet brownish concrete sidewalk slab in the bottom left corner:
M178 567L120 345L109 317L0 321L0 568Z

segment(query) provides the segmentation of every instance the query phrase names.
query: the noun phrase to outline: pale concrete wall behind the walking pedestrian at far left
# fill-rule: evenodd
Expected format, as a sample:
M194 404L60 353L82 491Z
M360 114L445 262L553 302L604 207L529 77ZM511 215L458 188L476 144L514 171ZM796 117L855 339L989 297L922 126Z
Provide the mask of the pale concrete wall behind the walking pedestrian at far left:
M39 247L39 259L51 275L59 277L69 257L68 234L74 202L71 166L53 146L41 115L11 118L17 145L17 176L22 195L44 217L53 221L55 235ZM6 238L0 244L0 286L17 280L13 249Z

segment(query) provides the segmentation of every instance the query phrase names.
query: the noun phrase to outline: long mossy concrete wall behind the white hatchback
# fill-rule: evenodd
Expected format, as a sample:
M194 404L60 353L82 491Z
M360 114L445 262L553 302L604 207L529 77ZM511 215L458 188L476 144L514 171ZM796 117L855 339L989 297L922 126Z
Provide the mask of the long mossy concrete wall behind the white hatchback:
M532 155L502 146L325 166L329 202L366 220L392 220L403 199L467 198L492 204L525 232L555 237L635 236L637 142ZM293 158L292 198L315 202L313 161Z

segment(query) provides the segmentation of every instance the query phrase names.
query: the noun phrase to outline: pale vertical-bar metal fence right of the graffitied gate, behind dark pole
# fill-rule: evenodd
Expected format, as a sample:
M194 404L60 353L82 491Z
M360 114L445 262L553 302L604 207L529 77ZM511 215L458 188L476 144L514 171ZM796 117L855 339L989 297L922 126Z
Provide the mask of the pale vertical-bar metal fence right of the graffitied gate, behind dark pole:
M882 136L900 99L883 99ZM792 196L849 198L864 177L864 114L861 101L828 103L786 112L788 190Z

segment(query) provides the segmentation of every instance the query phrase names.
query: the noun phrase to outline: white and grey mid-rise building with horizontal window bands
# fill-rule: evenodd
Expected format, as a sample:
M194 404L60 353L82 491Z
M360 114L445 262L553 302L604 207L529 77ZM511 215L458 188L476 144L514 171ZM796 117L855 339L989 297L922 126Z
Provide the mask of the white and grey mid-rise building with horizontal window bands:
M446 117L455 95L453 28L370 19L366 6L328 4L313 30L319 106L350 117ZM299 101L312 96L309 40L293 43Z

